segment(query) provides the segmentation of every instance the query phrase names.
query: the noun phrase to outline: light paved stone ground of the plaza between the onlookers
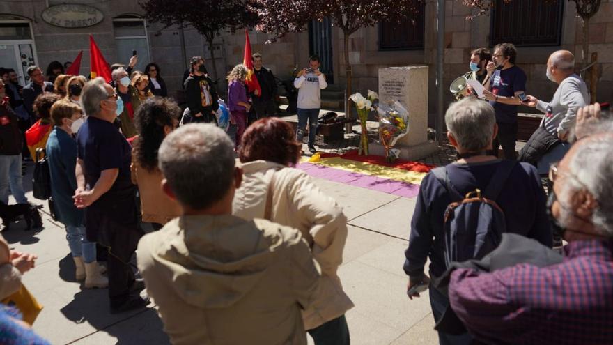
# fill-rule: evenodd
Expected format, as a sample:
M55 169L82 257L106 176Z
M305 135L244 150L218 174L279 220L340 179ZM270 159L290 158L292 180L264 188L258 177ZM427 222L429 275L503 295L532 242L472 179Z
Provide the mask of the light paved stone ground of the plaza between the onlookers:
M320 148L340 153L356 148L358 137L350 134L346 144ZM424 162L444 164L452 157L453 151L446 145ZM31 190L28 181L32 170L29 166L29 174L24 178L27 190ZM339 275L355 303L355 308L347 313L352 344L437 344L428 293L412 301L405 294L403 252L408 244L414 198L319 178L315 181L343 206L349 220L349 236ZM27 195L34 200L31 192ZM34 330L52 344L169 344L155 306L111 315L105 289L80 288L75 282L65 230L51 220L46 205L44 212L42 229L24 231L24 222L20 222L3 233L11 247L38 255L36 268L23 278L24 284L45 306ZM312 344L310 339L309 342Z

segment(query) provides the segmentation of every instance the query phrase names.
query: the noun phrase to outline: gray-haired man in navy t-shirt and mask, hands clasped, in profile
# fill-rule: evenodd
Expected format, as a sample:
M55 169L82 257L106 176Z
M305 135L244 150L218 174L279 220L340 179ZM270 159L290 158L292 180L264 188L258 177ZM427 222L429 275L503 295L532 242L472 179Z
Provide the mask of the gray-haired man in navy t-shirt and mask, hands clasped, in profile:
M109 248L108 275L111 312L147 305L130 268L142 231L130 178L132 148L113 125L118 95L101 77L81 92L86 122L77 133L75 205L85 208L87 238ZM141 283L142 284L142 283Z

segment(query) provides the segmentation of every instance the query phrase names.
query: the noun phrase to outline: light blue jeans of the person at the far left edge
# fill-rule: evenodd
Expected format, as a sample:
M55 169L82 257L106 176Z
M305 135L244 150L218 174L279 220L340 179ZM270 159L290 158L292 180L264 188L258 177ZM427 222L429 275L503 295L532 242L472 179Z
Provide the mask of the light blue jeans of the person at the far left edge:
M13 194L17 204L28 202L24 192L21 154L0 155L0 201L4 204L8 204L8 194Z

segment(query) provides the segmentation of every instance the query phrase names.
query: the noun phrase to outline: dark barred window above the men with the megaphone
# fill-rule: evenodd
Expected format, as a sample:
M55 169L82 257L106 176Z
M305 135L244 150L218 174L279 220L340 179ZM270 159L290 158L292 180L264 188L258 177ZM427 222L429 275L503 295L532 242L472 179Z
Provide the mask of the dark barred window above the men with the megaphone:
M494 0L490 43L510 42L518 47L560 45L564 2Z

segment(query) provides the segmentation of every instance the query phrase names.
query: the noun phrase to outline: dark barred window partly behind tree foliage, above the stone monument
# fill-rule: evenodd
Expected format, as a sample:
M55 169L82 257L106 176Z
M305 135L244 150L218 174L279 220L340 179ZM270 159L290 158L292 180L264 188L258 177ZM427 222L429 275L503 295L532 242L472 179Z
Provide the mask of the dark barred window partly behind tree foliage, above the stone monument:
M379 23L379 50L424 49L425 2L419 1L416 12L400 24Z

